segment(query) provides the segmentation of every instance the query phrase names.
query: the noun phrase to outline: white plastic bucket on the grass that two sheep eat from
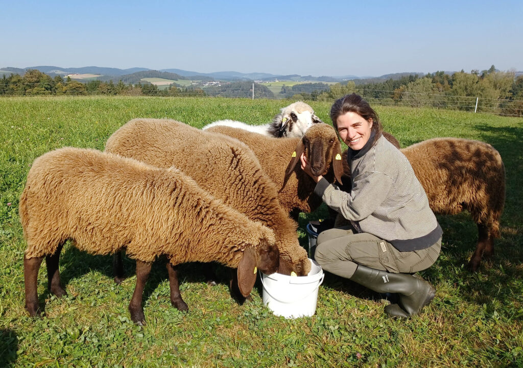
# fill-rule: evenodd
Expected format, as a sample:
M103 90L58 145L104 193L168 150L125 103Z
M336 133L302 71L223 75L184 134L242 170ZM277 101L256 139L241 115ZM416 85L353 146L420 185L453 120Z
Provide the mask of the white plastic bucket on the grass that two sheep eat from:
M316 312L318 288L325 274L319 264L311 261L306 276L287 276L281 273L261 273L263 303L277 316L285 318L310 317Z

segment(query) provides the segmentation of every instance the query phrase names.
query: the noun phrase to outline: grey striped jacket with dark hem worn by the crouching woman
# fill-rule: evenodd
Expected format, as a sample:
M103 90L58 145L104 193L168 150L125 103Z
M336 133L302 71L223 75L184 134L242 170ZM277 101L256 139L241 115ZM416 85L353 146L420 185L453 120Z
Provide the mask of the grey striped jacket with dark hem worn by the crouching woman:
M387 240L400 251L428 248L438 241L441 227L425 190L407 158L383 136L353 157L350 170L350 193L326 179L314 192L358 231Z

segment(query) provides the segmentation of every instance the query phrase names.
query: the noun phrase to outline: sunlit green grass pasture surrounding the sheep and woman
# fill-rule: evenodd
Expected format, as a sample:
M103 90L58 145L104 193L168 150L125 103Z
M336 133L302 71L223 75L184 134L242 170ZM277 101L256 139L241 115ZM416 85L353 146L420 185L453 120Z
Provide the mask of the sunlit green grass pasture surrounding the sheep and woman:
M91 256L66 244L60 272L69 293L55 298L40 268L41 318L24 309L26 248L18 199L32 161L63 146L103 149L108 137L137 117L173 118L201 128L220 119L265 123L290 101L223 98L54 97L0 98L0 366L156 367L520 367L523 366L523 120L487 114L380 107L385 130L402 146L431 137L456 136L492 144L507 172L502 238L477 273L464 264L477 230L468 214L438 216L444 229L441 255L420 272L436 298L410 320L383 313L384 301L359 285L327 274L316 315L286 320L261 303L259 285L243 305L229 295L226 272L209 286L202 266L187 264L180 289L188 313L169 302L169 285L158 260L144 293L147 325L135 326L127 310L129 278L112 280L110 256ZM330 103L310 105L325 122ZM212 178L210 178L212 180ZM300 215L326 216L322 206Z

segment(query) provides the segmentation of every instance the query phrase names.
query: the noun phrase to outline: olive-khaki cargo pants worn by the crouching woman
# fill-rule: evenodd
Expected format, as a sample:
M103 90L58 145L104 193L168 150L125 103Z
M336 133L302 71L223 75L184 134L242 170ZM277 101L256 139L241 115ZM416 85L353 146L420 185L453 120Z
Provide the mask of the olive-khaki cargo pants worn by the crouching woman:
M441 250L441 238L426 249L401 252L386 240L354 233L348 226L328 229L317 238L316 262L326 271L350 279L358 264L392 273L413 273L432 266Z

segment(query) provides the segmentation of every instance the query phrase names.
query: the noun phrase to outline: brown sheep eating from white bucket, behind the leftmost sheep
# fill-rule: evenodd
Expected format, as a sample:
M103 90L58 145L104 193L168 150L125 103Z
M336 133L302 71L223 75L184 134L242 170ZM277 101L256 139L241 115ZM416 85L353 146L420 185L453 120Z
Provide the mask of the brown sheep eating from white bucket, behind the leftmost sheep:
M134 119L109 137L105 151L180 169L226 205L274 231L280 273L306 275L310 271L307 252L298 241L297 224L281 207L277 188L256 156L241 142L175 120Z

